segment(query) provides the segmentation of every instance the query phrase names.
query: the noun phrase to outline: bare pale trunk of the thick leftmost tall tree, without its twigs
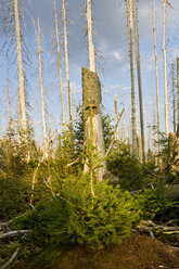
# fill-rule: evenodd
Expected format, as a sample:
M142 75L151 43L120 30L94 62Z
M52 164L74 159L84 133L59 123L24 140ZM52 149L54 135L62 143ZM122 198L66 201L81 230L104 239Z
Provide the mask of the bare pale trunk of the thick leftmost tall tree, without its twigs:
M23 72L23 55L22 55L22 38L21 38L18 0L14 0L13 3L14 3L14 13L15 13L15 30L16 30L16 49L17 49L22 130L23 130L23 132L26 133L27 132L27 118L26 118L26 104L25 104L25 89L24 89L24 72Z

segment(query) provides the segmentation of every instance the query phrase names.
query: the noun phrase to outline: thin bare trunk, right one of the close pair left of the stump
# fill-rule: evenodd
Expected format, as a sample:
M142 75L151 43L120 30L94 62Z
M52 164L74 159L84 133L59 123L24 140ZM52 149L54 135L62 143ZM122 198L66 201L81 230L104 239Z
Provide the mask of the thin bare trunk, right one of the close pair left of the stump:
M69 63L68 63L68 47L67 47L67 27L66 27L66 8L65 1L62 0L63 9L63 25L64 25L64 46L65 46L65 65L66 65L66 88L67 88L67 107L68 107L68 121L72 121L72 100L71 100L71 86L69 86Z

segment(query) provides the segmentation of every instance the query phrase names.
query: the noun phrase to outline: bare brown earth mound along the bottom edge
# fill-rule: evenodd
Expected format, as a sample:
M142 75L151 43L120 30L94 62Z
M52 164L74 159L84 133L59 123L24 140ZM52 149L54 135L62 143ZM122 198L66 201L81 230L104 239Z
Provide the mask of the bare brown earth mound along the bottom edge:
M179 238L176 246L179 244ZM43 254L46 256L46 254ZM16 261L15 269L179 269L179 248L169 246L146 234L133 232L120 245L100 251L74 245L55 249L49 260L40 257Z

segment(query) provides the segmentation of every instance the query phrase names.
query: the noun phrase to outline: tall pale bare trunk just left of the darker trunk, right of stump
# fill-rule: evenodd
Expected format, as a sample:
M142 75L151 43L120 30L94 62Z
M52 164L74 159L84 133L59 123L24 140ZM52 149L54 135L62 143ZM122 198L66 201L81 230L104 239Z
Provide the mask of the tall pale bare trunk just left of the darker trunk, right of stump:
M131 0L127 0L127 21L128 21L128 40L129 40L129 55L130 55L130 74L131 74L132 150L133 150L133 154L138 156L137 97L136 97L136 78L135 78L135 44L133 44L133 23L132 23Z

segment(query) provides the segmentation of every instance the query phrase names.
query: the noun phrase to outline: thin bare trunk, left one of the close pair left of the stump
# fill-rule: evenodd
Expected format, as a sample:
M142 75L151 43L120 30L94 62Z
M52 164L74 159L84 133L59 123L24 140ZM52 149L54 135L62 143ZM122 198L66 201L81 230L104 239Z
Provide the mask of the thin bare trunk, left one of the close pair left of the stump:
M54 0L53 2L53 11L54 11L54 26L55 26L56 50L57 50L59 78L60 78L60 87L61 87L62 117L63 117L63 125L65 126L65 108L64 108L64 100L63 100L61 48L60 48L60 35L59 35L59 26L57 26L56 0Z

